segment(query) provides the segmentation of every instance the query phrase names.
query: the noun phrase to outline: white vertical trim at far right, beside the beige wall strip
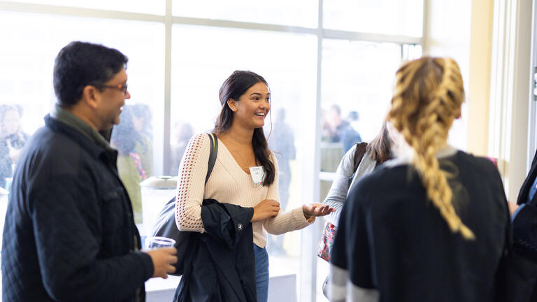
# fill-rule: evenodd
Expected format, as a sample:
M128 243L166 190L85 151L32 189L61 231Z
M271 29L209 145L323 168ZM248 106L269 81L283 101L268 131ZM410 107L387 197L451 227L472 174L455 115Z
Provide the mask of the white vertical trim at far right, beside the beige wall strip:
M495 0L488 152L499 158L509 201L527 174L532 0Z

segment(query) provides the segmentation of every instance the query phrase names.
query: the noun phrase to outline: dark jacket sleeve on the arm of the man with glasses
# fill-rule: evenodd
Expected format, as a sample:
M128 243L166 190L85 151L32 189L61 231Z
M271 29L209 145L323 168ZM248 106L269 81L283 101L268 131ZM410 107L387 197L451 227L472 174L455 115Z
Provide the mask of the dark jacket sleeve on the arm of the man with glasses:
M99 202L80 196L80 180L50 180L31 198L39 270L43 285L58 301L123 301L134 296L153 273L148 254L127 252L99 259ZM94 215L84 215L92 208ZM32 272L35 273L35 272Z

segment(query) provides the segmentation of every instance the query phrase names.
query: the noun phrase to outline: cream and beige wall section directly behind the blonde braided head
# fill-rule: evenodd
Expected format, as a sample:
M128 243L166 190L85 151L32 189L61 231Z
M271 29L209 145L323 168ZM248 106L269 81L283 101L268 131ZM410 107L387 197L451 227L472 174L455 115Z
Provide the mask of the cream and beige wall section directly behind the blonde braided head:
M449 143L476 155L488 155L494 0L426 1L425 52L455 59L466 89L462 118L454 122Z

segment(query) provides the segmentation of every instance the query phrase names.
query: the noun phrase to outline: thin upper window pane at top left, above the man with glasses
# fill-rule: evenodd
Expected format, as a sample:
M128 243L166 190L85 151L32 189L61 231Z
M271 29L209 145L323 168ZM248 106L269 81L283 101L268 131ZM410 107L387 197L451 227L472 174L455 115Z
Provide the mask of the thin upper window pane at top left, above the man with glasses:
M148 13L164 15L164 0L22 0L17 2L49 4L55 6L73 6L78 8L96 8L102 10L127 11L132 13Z

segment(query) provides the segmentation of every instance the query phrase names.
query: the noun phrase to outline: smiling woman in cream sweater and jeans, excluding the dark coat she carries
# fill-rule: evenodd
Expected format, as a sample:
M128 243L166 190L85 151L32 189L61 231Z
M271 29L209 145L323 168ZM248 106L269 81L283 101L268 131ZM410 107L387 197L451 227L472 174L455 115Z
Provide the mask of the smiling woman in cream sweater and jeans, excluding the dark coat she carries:
M255 257L255 272L251 273L255 273L257 301L264 302L268 295L267 232L282 234L302 229L312 224L315 216L327 215L334 209L320 203L287 213L280 208L278 164L263 134L265 117L271 109L270 91L261 75L234 71L220 87L220 105L213 130L218 137L217 160L206 185L208 136L193 136L182 158L176 224L181 231L203 233L203 199L251 208L248 223L252 224ZM241 229L245 227L241 225ZM198 268L193 269L195 274Z

